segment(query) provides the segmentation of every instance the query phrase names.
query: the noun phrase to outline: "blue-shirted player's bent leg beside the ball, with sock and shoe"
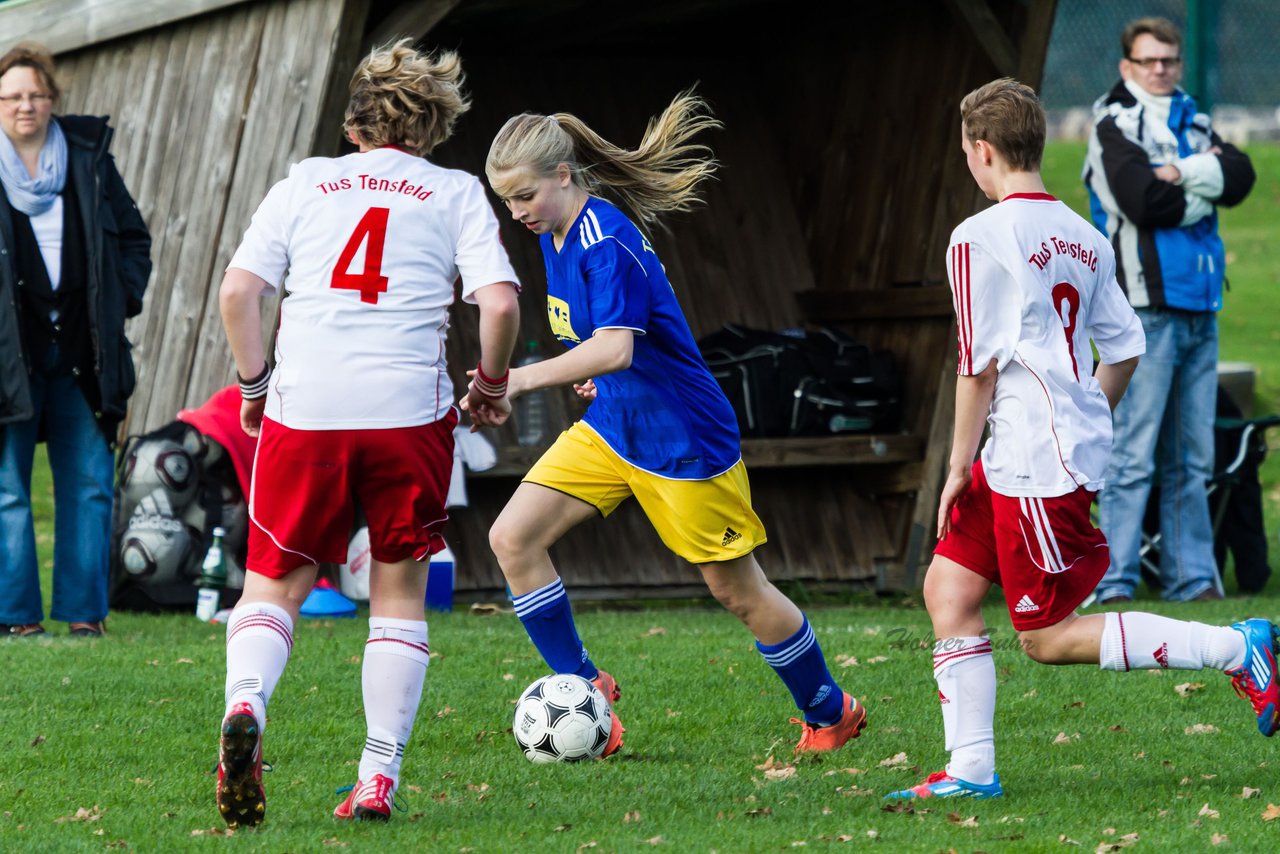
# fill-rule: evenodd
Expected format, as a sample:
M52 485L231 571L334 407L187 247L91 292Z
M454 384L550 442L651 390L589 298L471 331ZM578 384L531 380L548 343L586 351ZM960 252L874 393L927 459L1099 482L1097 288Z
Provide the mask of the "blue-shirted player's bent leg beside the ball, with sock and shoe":
M612 726L602 754L607 757L622 746L626 731L613 709L622 691L613 676L595 666L577 636L568 595L548 552L561 536L598 512L572 495L522 483L489 530L489 547L507 579L516 615L543 661L557 673L590 680L609 700Z

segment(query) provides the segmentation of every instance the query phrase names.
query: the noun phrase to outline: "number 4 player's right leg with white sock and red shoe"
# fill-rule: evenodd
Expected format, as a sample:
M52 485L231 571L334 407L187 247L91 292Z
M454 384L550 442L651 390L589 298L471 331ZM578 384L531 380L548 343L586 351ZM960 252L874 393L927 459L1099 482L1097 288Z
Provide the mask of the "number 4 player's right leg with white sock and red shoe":
M388 821L401 761L413 732L431 652L428 647L426 563L374 560L369 572L369 640L361 666L365 748L356 785L334 816Z

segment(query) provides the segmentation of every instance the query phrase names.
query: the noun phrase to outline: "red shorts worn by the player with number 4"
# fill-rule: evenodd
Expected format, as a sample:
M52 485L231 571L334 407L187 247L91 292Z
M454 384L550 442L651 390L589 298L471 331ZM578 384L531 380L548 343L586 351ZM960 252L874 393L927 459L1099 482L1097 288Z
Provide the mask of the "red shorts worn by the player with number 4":
M412 428L292 430L262 419L253 457L247 568L273 579L343 563L356 502L370 553L394 563L440 551L458 414Z

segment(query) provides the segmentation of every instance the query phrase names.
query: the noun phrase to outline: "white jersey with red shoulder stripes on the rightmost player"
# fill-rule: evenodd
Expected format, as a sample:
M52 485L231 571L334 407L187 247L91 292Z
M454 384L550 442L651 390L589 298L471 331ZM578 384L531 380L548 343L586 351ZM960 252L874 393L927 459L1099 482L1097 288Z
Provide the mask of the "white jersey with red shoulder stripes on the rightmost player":
M1042 498L1101 489L1111 408L1089 341L1107 364L1146 352L1106 238L1052 196L1018 193L960 223L947 261L959 373L992 360L998 370L982 451L991 488Z

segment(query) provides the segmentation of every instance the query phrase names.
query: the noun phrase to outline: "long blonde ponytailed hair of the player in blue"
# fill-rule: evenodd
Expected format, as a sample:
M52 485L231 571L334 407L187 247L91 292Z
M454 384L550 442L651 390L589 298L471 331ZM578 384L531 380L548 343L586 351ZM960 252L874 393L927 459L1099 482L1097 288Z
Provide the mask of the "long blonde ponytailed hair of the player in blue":
M692 90L681 92L655 119L649 119L635 150L622 149L571 113L512 117L498 131L485 173L489 182L508 169L527 168L538 177L566 164L573 183L590 195L612 195L645 225L659 215L700 204L699 184L716 174L712 150L690 140L721 128L710 108Z

